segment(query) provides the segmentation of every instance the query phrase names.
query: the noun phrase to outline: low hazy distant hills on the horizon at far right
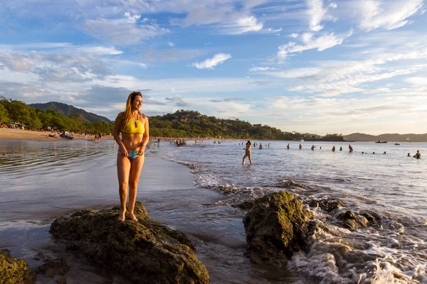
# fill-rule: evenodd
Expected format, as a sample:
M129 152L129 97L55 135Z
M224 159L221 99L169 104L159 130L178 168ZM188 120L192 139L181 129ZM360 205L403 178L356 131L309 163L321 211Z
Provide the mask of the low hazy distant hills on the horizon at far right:
M380 135L369 135L364 133L352 133L344 135L346 141L393 141L393 142L427 142L427 133L425 134L399 134L399 133L386 133Z

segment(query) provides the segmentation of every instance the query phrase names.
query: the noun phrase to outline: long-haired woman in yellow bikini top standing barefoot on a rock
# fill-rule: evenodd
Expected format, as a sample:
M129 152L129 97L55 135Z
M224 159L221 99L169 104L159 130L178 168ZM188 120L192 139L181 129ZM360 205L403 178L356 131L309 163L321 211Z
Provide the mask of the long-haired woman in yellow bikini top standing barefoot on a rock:
M129 217L138 222L134 214L137 200L137 187L142 165L144 165L145 146L149 141L147 116L141 114L142 94L132 92L127 97L126 110L117 115L114 123L114 140L119 145L117 153L117 176L119 178L120 216L125 221L127 186L129 185ZM122 139L120 140L120 133Z

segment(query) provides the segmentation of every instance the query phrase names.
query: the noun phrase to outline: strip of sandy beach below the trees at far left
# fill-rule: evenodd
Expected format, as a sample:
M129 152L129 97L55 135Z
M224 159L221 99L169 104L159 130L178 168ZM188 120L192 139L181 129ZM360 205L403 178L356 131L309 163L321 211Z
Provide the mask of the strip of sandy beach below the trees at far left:
M51 134L50 131L31 131L31 130L21 130L21 129L0 129L0 140L32 140L32 141L68 141L68 139L49 137ZM95 136L88 135L85 138L85 135L80 135L78 133L74 134L74 138L77 140L93 139ZM101 140L113 140L113 136L102 136Z

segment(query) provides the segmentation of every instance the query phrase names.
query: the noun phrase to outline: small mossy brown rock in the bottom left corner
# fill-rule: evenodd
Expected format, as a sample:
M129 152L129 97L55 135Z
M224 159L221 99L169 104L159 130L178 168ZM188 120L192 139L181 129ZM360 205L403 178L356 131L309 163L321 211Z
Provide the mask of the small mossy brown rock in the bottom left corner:
M31 284L36 281L36 275L23 259L12 258L7 249L0 251L0 283L1 284Z

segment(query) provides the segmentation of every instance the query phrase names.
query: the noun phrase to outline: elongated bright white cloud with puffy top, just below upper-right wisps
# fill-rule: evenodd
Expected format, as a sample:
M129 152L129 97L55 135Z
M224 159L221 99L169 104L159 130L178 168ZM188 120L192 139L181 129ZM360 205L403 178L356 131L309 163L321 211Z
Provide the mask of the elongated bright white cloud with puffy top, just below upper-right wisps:
M280 45L278 48L278 58L284 60L288 58L290 53L300 53L304 50L317 49L318 51L325 50L327 48L332 48L335 45L340 45L348 38L352 33L348 35L334 35L334 33L321 35L317 38L313 38L311 33L304 33L302 35L303 45L298 45L297 43L290 42L285 45Z

